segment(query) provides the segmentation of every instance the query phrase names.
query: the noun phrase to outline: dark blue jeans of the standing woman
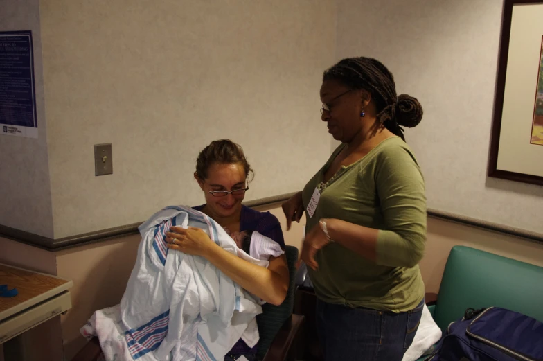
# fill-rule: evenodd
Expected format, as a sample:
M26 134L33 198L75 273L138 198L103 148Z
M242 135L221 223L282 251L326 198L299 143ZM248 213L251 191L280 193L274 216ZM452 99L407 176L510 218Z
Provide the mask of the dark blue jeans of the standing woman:
M325 361L401 361L411 346L424 300L408 312L350 308L317 301L317 333Z

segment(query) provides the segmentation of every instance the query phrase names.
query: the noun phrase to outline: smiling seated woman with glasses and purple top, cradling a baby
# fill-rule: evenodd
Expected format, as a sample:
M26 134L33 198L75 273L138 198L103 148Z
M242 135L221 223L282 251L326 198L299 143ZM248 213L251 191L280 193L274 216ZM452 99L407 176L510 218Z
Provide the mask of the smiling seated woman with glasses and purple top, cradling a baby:
M194 177L204 192L206 203L194 209L205 213L232 233L258 231L284 249L283 231L277 218L269 212L254 211L242 205L245 191L249 189L249 174L252 173L238 144L228 139L212 141L196 160ZM213 243L202 229L172 227L167 236L168 248L206 258L262 301L279 305L285 300L289 271L284 254L269 258L269 266L265 268L226 252ZM240 355L251 360L256 351L256 347L251 349L239 340L225 360L235 360Z

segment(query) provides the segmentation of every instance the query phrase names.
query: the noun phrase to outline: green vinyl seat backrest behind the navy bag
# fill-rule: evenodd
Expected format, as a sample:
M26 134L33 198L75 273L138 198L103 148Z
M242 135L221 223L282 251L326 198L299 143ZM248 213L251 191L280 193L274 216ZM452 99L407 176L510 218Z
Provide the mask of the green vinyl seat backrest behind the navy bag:
M497 306L543 322L543 267L479 249L451 249L434 313L444 330L467 308Z

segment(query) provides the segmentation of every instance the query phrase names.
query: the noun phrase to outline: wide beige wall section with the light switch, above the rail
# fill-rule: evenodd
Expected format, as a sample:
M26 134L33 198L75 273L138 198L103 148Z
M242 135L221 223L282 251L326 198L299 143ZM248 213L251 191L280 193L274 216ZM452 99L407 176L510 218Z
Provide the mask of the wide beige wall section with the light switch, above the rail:
M300 189L328 157L319 87L335 1L40 6L55 238L202 202L192 174L213 139L246 150L247 200ZM96 143L113 144L113 175L94 176Z

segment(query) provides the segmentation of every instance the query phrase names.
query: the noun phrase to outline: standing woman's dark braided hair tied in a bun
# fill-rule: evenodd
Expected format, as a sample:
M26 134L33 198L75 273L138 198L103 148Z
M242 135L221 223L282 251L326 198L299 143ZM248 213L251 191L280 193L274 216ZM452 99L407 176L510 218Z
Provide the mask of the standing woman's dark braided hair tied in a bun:
M379 60L346 58L324 72L323 81L326 80L369 91L377 109L377 121L403 140L404 130L400 125L416 127L422 119L418 100L407 94L396 96L394 77Z

